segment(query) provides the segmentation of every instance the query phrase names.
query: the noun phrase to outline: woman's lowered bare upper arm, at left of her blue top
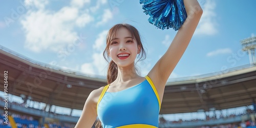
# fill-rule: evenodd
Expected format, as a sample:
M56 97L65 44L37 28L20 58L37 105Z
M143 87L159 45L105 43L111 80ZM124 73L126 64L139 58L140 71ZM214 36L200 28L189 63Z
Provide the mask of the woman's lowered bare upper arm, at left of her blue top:
M92 125L94 124L97 118L97 111L96 111L97 102L95 102L96 97L97 97L97 91L94 90L88 96L86 103L84 103L82 114L75 128L92 127Z

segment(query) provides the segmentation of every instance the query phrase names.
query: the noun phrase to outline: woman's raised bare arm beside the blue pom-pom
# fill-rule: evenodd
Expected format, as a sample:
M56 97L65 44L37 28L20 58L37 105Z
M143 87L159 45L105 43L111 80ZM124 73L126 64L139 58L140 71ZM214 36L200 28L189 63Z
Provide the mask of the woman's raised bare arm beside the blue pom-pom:
M164 90L167 79L185 52L203 13L197 0L184 0L187 19L178 30L172 44L148 73L158 90Z

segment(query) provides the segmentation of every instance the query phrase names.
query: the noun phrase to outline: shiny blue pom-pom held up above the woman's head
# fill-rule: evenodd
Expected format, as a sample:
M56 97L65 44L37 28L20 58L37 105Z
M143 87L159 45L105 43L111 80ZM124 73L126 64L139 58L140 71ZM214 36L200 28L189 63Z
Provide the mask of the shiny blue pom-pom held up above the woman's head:
M140 4L144 13L150 15L148 22L162 30L177 31L187 18L183 0L140 0Z

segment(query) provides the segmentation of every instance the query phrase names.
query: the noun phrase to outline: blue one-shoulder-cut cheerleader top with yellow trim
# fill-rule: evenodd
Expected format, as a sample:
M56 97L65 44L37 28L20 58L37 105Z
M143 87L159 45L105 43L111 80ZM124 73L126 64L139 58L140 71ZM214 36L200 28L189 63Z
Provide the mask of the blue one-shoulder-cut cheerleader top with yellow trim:
M97 103L103 128L158 127L161 103L150 77L119 92L106 92L109 86L104 87Z

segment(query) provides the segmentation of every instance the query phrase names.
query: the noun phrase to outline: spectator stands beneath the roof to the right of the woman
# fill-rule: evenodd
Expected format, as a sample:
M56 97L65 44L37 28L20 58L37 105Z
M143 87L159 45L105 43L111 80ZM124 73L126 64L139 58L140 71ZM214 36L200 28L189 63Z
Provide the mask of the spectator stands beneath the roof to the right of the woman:
M246 109L244 113L221 115L218 118L207 116L206 119L170 121L160 116L159 127L256 128L255 117L256 113L250 109Z

